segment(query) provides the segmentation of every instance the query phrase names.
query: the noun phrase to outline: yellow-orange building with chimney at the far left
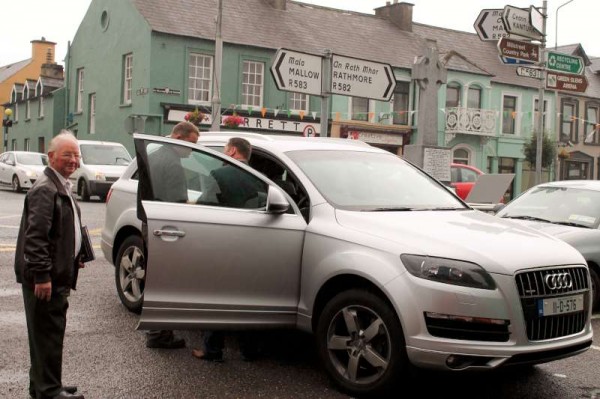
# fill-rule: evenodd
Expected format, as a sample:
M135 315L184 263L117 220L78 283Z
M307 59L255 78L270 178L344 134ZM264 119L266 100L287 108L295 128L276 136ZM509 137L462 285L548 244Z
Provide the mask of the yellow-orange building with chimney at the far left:
M31 41L31 58L0 67L0 112L4 115L4 106L10 102L11 92L15 83L26 80L37 82L43 64L54 64L56 43L41 40Z

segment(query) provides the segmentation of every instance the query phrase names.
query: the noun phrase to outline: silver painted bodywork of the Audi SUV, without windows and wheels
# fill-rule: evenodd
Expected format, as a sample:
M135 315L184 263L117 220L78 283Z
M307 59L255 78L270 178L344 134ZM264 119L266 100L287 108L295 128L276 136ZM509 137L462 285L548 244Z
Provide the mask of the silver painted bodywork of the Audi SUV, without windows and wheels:
M203 133L199 144L223 146L231 135L234 133ZM218 152L189 143L135 137L147 142L177 143L226 159ZM385 151L341 139L246 137L255 151L276 157L302 184L310 199L309 216L303 217L299 206L273 181L236 162L240 169L269 186L269 196L277 192L287 199L292 211L273 214L144 200L149 263L139 328L296 327L314 332L325 298L336 290L358 285L369 287L391 304L413 365L492 369L570 356L591 344L587 267L583 257L568 244L470 209L424 173L422 179L439 185L439 195L447 195L444 201L454 208L388 212L343 209L322 195L289 154L387 154ZM131 179L134 169L131 165L115 183L107 205L102 249L111 262L115 262L113 243L122 242L124 235L140 228L135 218L136 181ZM157 232L174 235L161 236ZM405 254L479 265L489 273L495 288L478 289L418 277L403 264L401 256ZM577 289L583 295L577 316L581 329L551 338L544 337L544 331L532 336L527 326L531 321L526 322L529 316L524 317L523 306L542 298L541 292L534 295L523 291L522 286L520 292L518 281L523 276L556 271L576 271ZM477 320L505 323L505 339L465 339L440 333L437 323L446 316L467 325ZM566 319L556 320L568 323ZM452 365L450 359L457 357L464 362Z

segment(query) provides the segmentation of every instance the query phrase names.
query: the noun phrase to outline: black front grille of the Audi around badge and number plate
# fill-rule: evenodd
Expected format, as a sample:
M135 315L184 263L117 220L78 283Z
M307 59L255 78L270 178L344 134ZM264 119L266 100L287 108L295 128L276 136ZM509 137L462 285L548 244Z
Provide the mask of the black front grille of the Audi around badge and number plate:
M549 275L566 274L571 284L551 289L546 282ZM589 277L584 267L562 267L519 273L515 277L521 307L530 341L542 341L576 334L582 331L589 314ZM584 309L575 313L541 316L539 301L566 295L583 294Z

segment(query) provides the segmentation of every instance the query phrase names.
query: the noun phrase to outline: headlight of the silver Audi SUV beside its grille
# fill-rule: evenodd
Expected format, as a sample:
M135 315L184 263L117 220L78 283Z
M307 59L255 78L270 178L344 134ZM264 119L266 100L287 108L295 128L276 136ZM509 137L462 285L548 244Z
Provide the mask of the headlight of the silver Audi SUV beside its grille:
M492 276L475 263L408 254L400 255L400 259L415 277L484 290L496 288Z

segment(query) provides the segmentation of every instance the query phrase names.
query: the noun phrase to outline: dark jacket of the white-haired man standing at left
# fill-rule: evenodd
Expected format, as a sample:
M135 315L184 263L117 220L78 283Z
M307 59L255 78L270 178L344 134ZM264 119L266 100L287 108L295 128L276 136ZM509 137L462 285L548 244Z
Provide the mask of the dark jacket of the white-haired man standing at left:
M17 282L34 288L52 282L53 291L75 289L79 262L74 256L74 215L66 188L50 168L25 197L15 253Z

